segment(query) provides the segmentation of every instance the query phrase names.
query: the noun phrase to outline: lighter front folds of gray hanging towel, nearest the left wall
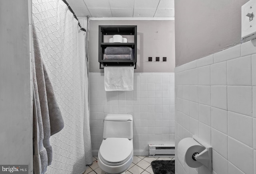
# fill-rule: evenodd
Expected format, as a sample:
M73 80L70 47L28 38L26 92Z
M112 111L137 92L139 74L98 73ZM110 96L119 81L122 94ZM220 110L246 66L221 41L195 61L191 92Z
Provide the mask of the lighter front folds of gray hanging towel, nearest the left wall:
M49 116L47 118L46 115L46 107L44 107L45 102L44 92L42 90L42 86L45 86L43 70L41 70L42 60L40 56L40 49L38 45L36 30L34 25L32 25L32 34L33 34L33 49L34 49L34 57L33 57L33 84L34 84L34 140L37 139L38 144L34 141L34 161L33 166L36 170L34 170L35 174L44 174L47 170L48 166L48 153L52 153L52 147L50 146L50 120ZM41 65L41 66L40 66ZM40 87L41 86L41 87ZM40 90L39 90L40 88ZM44 113L43 113L44 111ZM47 126L49 124L49 126ZM40 159L39 159L40 157ZM50 155L49 155L50 157ZM51 159L49 159L51 160Z

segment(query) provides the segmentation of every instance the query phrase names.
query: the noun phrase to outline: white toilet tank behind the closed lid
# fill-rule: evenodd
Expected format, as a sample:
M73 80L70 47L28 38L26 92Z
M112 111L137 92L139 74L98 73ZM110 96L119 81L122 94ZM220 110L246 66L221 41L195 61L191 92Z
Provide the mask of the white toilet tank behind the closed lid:
M103 138L133 138L132 115L108 114L104 118Z

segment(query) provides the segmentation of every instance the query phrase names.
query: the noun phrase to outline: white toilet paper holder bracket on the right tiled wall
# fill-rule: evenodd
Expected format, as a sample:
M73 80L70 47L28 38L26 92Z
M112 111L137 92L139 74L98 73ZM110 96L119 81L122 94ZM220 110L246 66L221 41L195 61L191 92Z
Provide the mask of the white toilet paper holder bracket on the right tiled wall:
M193 139L205 147L205 149L200 153L195 152L192 156L192 159L202 163L208 168L208 170L212 171L212 147L199 139L196 135L193 135Z

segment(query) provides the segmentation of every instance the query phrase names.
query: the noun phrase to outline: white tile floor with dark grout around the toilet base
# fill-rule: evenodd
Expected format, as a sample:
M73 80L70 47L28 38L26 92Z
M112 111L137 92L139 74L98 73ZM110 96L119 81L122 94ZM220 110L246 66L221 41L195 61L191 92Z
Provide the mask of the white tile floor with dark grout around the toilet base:
M84 174L105 174L98 165L98 156L93 157L93 163L91 166L87 166ZM174 160L174 158L162 158L162 157L148 157L148 156L134 156L132 164L126 170L125 174L154 174L150 163L154 160Z

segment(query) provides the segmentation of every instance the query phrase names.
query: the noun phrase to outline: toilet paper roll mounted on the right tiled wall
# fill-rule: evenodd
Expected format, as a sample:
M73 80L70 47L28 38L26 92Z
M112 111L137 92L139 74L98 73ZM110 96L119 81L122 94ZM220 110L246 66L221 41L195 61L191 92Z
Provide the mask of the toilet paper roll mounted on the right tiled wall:
M185 162L192 168L197 168L203 164L192 159L194 152L202 152L205 148L192 138L184 138L178 143L178 160L185 167Z

